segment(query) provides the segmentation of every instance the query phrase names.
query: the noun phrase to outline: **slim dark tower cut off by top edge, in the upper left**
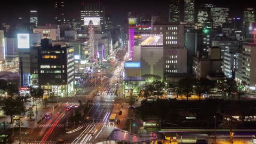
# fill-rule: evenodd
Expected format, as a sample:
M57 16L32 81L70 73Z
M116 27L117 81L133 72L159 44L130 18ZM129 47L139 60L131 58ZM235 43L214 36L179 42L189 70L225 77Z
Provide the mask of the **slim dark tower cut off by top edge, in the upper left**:
M54 7L56 10L55 19L57 24L60 25L64 18L64 0L55 0Z

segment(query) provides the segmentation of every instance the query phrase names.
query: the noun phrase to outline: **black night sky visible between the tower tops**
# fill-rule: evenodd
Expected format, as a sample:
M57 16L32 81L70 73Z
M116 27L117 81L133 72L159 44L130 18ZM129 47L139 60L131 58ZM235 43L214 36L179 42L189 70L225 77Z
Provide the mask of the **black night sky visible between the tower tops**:
M25 21L29 21L29 11L38 11L39 26L45 23L54 23L54 0L24 0L24 1L7 1L9 4L2 3L0 9L0 22L14 22L18 17L22 17ZM72 14L79 18L80 0L66 0L65 14ZM115 25L122 25L128 11L137 13L159 13L164 17L168 17L169 1L167 0L101 0L105 5L106 13L111 13L111 20ZM231 17L242 17L243 7L256 8L256 3L250 0L231 1L231 0L196 0L196 4L212 3L218 6L229 6Z

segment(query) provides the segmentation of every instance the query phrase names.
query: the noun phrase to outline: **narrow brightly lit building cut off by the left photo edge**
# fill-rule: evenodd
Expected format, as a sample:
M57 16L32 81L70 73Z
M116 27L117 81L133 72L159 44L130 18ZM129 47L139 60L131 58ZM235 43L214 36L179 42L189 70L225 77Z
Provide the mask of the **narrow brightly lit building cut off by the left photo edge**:
M5 62L4 30L0 30L0 71L4 70L4 62Z

